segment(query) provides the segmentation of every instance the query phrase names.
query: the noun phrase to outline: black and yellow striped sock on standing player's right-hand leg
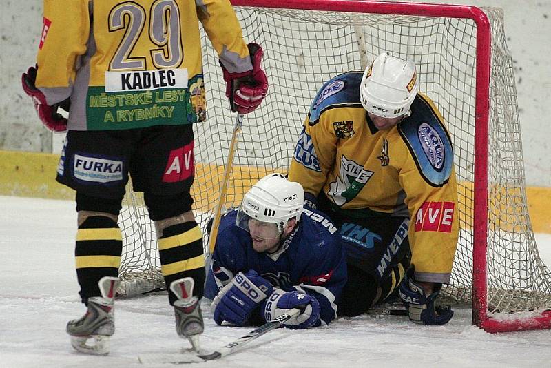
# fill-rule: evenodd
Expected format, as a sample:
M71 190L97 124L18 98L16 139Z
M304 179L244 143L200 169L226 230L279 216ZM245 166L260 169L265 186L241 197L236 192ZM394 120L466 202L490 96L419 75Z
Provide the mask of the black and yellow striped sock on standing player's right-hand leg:
M195 221L178 223L163 229L158 239L160 270L165 276L167 289L178 278L195 280L194 296L202 298L205 283L205 256L202 249L202 234ZM174 305L176 295L169 289L169 302Z

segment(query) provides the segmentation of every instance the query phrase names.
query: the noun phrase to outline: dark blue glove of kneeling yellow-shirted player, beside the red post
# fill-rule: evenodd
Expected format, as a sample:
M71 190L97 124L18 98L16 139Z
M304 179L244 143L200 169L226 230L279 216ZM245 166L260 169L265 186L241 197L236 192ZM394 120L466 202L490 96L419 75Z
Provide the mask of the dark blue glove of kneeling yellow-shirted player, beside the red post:
M409 319L423 325L444 325L453 316L453 310L449 305L442 307L435 305L440 294L440 287L427 296L421 285L415 283L413 278L415 269L410 267L399 286L400 298L408 310Z

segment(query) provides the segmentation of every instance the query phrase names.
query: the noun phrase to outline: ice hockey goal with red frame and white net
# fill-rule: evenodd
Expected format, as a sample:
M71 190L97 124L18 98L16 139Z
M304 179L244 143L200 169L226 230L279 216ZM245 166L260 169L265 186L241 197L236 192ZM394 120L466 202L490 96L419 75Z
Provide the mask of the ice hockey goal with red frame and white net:
M245 39L265 50L270 87L262 107L245 116L225 207L238 204L266 172L287 172L302 121L324 81L362 70L384 51L412 58L421 91L446 119L455 150L461 230L446 297L472 303L473 323L488 331L550 328L551 274L539 258L526 206L501 10L380 1L275 3L233 0ZM193 190L202 229L220 192L235 120L216 53L203 41L208 121L195 125ZM128 192L121 216L121 277L129 280L129 294L163 286L153 227L140 198ZM133 289L136 280L145 280L145 289Z

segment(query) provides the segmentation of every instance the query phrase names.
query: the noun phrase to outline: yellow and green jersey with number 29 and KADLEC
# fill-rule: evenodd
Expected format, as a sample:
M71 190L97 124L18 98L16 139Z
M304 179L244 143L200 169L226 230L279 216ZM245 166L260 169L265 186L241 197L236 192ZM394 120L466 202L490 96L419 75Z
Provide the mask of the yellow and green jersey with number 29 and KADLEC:
M198 20L229 72L252 69L229 0L45 0L37 88L70 97L70 130L202 121Z

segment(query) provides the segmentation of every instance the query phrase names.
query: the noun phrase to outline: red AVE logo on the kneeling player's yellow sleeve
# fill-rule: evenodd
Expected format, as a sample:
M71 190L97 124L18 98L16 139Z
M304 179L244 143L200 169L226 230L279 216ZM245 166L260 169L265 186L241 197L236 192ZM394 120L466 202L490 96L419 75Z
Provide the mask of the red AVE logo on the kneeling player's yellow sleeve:
M416 232L451 232L453 202L425 202L415 216Z

